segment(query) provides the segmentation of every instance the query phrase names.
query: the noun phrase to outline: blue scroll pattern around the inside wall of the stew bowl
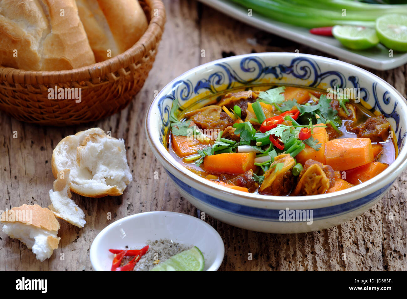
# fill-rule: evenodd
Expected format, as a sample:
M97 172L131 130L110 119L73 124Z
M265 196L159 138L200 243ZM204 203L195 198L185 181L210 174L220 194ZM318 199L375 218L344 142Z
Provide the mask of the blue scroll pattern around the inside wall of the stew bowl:
M161 136L160 140L164 142L164 135L169 127L169 115L174 99L178 100L182 107L183 103L191 98L198 96L201 92L209 91L210 94L225 93L228 89L233 89L236 84L239 85L264 85L262 81L267 76L274 78L270 85L284 85L282 79L294 77L303 81L302 86L318 88L322 83L327 83L329 87L334 88L356 88L360 90L361 101L368 104L372 113L379 111L387 119L392 119L392 128L397 136L398 147L401 148L405 143L406 131L399 126L400 116L396 111L397 103L390 107L390 111L383 109L382 106L391 105L389 91L378 91L377 83L372 86L361 86L359 78L355 75L346 76L337 70L322 71L318 63L308 57L295 57L289 65L267 65L260 57L255 55L243 57L240 61L240 68L234 69L229 63L216 63L217 70L208 74L205 78L199 79L193 83L190 80L180 80L173 84L171 93L166 94L159 100L160 118L161 118ZM244 74L244 76L242 76ZM252 79L246 79L252 78Z

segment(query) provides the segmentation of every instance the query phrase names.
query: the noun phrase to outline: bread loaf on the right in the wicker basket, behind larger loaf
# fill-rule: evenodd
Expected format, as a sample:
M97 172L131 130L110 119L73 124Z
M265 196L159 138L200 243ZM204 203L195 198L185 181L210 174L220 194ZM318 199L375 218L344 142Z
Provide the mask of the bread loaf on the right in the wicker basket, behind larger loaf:
M96 61L131 48L147 30L147 18L138 0L77 0L79 16Z

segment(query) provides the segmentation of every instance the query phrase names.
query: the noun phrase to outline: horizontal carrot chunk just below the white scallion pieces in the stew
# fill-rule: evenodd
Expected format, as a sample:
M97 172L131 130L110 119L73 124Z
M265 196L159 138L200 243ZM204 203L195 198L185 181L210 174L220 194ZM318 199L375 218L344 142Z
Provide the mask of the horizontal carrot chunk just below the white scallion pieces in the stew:
M255 170L254 158L256 153L223 153L204 157L206 172L221 172L239 174L247 170Z

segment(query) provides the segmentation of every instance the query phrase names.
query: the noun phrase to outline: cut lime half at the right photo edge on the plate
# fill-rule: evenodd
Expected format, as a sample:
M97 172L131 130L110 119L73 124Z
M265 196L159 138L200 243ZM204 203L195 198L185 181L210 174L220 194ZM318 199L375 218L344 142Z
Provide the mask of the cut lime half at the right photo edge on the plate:
M382 15L376 20L376 31L387 48L407 52L407 15Z

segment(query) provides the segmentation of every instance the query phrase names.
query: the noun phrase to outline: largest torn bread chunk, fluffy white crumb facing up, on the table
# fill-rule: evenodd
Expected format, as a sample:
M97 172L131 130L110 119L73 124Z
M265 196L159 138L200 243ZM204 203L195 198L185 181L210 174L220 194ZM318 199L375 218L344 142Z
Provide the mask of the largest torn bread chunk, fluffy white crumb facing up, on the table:
M63 138L52 155L54 177L70 169L70 190L82 196L121 195L133 177L127 164L125 142L100 128Z

